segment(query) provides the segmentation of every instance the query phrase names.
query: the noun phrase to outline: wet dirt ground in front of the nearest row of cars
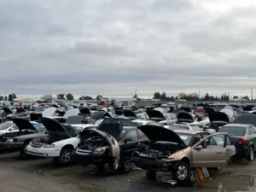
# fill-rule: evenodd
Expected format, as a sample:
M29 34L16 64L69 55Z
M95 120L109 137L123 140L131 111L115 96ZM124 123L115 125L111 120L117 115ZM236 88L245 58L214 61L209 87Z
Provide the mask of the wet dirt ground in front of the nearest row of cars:
M147 180L145 172L136 168L106 177L96 175L94 166L57 166L51 159L24 159L17 152L0 154L0 170L0 192L256 191L256 160L236 161L221 172L210 172L209 183L187 188Z

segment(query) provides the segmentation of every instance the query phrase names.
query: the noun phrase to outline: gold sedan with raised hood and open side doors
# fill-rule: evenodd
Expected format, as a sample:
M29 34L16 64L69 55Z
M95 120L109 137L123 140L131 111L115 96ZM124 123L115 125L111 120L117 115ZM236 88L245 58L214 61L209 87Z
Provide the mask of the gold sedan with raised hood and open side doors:
M225 133L213 133L198 142L190 143L189 136L178 136L174 131L154 125L138 127L149 139L133 154L135 165L148 171L172 172L172 177L181 184L193 182L195 167L224 167L236 154L234 145ZM218 143L216 143L218 141ZM222 141L222 142L220 142Z

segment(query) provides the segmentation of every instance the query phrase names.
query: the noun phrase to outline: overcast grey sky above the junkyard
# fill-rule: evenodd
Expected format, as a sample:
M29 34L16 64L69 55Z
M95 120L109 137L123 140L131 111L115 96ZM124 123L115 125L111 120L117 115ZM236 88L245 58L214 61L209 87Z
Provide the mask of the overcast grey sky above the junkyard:
M0 13L0 94L256 88L254 1L9 0Z

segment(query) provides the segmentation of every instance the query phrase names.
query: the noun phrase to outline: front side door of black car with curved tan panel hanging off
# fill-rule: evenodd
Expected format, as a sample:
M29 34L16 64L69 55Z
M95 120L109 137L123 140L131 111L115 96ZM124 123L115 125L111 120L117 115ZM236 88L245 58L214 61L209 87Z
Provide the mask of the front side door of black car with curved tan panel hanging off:
M121 156L123 159L130 159L131 154L137 150L138 146L138 135L135 129L127 131L120 144Z

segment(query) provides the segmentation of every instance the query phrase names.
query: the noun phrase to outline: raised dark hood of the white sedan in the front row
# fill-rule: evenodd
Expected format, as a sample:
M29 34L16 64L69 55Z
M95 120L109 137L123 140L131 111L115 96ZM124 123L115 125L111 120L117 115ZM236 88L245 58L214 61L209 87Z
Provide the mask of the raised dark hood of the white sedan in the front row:
M45 129L52 133L64 133L65 135L69 137L75 136L75 131L73 130L73 127L68 125L61 125L57 120L55 119L49 119L49 118L42 118L41 119L42 124L44 125ZM70 130L67 130L70 129ZM73 132L74 131L74 132Z

